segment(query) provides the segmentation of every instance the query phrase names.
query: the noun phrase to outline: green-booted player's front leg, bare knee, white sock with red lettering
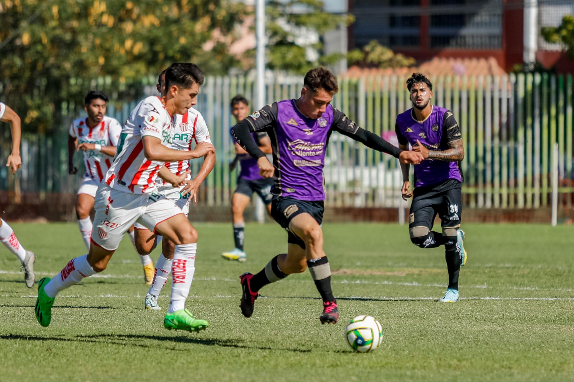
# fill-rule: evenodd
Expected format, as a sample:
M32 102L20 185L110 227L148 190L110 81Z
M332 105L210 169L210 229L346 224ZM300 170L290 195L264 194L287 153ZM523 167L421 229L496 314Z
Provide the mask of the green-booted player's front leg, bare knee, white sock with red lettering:
M172 294L168 314L164 318L164 327L190 332L207 329L207 321L193 318L191 312L185 309L185 301L195 273L197 231L181 213L156 225L156 232L176 245L172 260Z

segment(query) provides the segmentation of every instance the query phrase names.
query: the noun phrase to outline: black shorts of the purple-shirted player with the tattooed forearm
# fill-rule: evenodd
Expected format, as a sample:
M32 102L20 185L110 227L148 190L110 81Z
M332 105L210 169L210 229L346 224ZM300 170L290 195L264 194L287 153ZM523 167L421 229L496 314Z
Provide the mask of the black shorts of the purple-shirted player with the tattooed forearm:
M448 179L437 185L415 188L410 205L409 229L432 229L437 214L443 228L459 228L460 214L463 212L461 185L455 179Z

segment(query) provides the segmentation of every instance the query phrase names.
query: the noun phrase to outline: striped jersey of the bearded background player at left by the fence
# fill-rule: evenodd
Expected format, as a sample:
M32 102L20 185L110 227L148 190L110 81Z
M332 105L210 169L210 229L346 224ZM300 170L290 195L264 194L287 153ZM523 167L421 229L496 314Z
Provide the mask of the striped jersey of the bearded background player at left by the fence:
M77 138L80 143L97 143L102 146L117 146L122 125L114 118L104 115L102 122L94 127L88 126L87 118L75 119L70 126L69 135ZM99 153L95 150L84 151L84 165L86 174L84 178L90 177L96 182L101 182L107 170L114 161L110 155Z

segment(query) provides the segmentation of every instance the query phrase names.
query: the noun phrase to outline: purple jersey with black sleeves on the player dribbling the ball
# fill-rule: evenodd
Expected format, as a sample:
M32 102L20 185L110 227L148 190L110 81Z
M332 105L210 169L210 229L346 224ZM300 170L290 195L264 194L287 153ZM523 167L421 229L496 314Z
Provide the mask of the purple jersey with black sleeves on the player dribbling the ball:
M238 123L232 135L253 157L263 156L250 132L266 131L273 147L275 174L272 194L298 200L325 200L323 166L325 152L333 130L395 157L401 153L372 132L363 130L330 104L317 119L303 115L295 100L284 100L263 107Z

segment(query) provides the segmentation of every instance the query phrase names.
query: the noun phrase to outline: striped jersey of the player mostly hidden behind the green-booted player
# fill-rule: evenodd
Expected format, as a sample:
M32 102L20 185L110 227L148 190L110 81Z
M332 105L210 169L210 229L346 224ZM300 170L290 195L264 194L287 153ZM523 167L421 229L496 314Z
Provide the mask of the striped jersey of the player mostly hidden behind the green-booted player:
M201 142L211 143L210 132L207 130L207 124L201 113L194 108L190 108L186 114L176 114L172 118L173 124L173 141L170 146L173 150L191 151L192 142L198 145ZM165 162L165 166L172 173L181 175L189 169L189 161ZM191 179L191 174L187 176ZM158 178L158 184L168 185L161 178Z

